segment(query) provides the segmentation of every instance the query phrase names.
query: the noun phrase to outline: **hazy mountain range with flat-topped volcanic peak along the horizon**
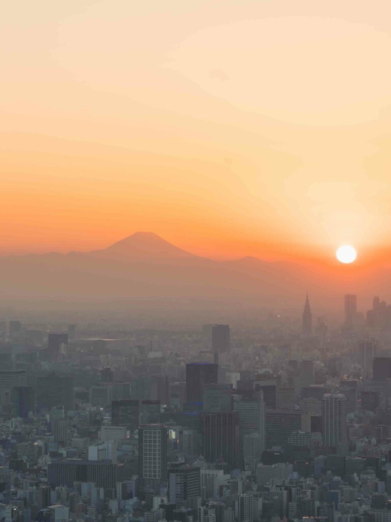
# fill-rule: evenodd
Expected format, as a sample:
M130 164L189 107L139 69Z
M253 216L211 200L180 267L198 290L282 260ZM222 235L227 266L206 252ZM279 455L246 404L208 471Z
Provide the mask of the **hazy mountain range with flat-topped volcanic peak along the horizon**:
M102 250L0 257L0 303L197 302L232 306L301 306L310 292L324 305L344 293L391 293L389 270L267 263L255 257L217 262L152 232L136 232ZM389 298L388 298L389 300ZM152 306L152 304L151 304ZM172 306L172 304L170 304Z

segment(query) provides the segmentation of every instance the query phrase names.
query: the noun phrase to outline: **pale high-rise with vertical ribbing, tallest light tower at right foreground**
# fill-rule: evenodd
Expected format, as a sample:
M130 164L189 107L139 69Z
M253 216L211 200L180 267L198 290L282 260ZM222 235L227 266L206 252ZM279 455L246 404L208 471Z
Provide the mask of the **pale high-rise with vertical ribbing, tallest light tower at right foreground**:
M340 394L325 394L322 399L323 444L337 448L340 455L347 449L346 397Z

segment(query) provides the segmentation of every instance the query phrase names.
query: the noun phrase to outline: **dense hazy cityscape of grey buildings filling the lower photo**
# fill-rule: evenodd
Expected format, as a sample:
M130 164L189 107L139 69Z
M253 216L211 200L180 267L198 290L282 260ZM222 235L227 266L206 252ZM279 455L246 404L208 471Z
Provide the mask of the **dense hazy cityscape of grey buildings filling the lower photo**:
M391 307L332 327L1 325L0 520L388 522ZM42 324L41 324L42 326Z

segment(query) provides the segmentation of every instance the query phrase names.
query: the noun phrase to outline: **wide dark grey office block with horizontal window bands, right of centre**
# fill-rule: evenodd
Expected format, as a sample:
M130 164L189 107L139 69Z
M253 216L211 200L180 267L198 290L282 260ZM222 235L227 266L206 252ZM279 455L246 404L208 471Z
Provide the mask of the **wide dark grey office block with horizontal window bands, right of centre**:
M301 410L265 410L266 448L284 447L288 444L289 435L302 429Z

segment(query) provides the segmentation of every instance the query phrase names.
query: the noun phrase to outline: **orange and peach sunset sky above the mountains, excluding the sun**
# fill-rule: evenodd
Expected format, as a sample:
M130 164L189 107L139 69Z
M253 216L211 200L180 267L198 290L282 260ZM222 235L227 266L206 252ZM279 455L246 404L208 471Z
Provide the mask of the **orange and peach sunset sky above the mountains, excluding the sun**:
M153 231L199 255L390 246L388 0L15 0L0 254Z

